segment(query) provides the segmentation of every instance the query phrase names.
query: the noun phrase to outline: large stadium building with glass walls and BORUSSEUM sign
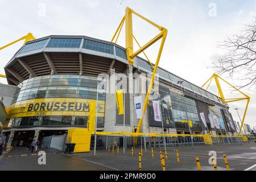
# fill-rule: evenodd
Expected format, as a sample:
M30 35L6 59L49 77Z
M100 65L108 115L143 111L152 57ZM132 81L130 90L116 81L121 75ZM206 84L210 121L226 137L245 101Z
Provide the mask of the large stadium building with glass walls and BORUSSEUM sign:
M9 144L22 140L66 133L72 127L86 127L89 103L97 98L98 75L105 80L105 92L98 93L98 131L122 131L123 115L118 115L114 93L106 92L115 73L138 76L127 81L132 93L125 94L125 131L137 129L134 96L146 96L151 65L135 57L129 65L126 49L112 42L86 36L52 35L24 44L5 66L7 82L16 86L2 132ZM158 68L158 98L162 108L164 133L235 134L236 125L228 105L199 86ZM114 75L114 76L113 76ZM115 80L115 79L114 79ZM204 121L203 121L203 120ZM206 125L204 124L206 123ZM154 121L152 101L143 119L143 133L162 133L162 123Z

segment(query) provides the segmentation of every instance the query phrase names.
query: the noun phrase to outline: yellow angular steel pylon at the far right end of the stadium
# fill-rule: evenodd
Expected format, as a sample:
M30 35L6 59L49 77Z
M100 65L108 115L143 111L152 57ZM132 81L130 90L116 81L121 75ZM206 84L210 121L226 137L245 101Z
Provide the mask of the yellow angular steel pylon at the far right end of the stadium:
M241 90L237 89L235 86L229 84L229 82L227 82L226 80L224 80L223 78L221 78L220 76L218 76L216 73L214 73L208 80L207 82L209 81L212 81L212 79L214 78L215 82L216 82L216 86L217 86L217 89L218 89L218 94L220 95L222 101L224 102L224 104L228 104L228 102L236 102L236 101L242 101L242 100L247 100L247 104L246 104L246 107L245 107L245 112L243 113L243 119L242 119L242 124L241 124L241 127L240 127L240 130L239 130L239 133L238 133L238 136L241 135L241 131L242 131L242 127L243 127L243 122L245 122L245 115L246 115L246 112L247 112L247 109L248 109L248 105L249 105L249 102L250 102L250 97L247 96L245 93L241 92ZM221 79L222 81L224 81L226 84L228 84L229 86L231 86L233 89L237 90L238 92L240 92L243 96L245 97L242 97L242 98L225 98L224 97L224 94L222 92L222 89L221 89L221 85L220 85L220 81L218 79ZM205 84L203 86L201 86L201 88L203 88L207 82L205 82ZM209 82L210 84L210 82ZM208 89L209 85L207 86L207 89ZM206 90L207 90L206 89Z

